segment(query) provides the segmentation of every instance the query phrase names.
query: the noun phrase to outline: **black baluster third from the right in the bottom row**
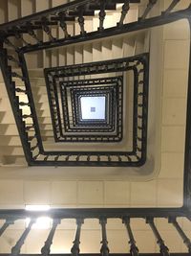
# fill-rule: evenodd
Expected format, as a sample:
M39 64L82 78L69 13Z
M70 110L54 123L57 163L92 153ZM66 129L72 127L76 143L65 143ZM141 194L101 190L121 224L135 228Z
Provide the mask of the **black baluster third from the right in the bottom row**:
M134 235L130 226L130 218L123 218L122 222L125 224L127 234L129 236L129 244L130 244L130 253L132 256L138 256L138 247L136 245L136 240L134 239Z

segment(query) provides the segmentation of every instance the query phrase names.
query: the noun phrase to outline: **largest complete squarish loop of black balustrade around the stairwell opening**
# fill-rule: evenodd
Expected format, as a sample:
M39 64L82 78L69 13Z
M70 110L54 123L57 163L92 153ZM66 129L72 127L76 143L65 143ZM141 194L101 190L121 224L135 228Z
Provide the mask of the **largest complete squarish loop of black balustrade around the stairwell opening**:
M107 66L107 68L106 68ZM88 71L86 71L88 69ZM56 164L56 165L100 165L105 166L138 166L144 163L146 158L146 134L147 134L147 104L148 104L148 55L140 55L132 58L122 58L114 60L108 60L104 62L87 63L83 65L66 66L60 68L50 68L45 70L45 77L47 82L51 85L54 82L64 81L66 77L74 77L80 72L81 75L86 74L99 74L107 72L134 72L134 142L132 151L41 151L40 143L37 141L38 137L32 133L31 136L27 137L28 146L32 153L31 164ZM120 84L121 87L121 84ZM51 88L52 91L52 88ZM122 95L122 90L119 92ZM51 94L53 98L53 94ZM54 99L52 104L54 103ZM35 108L33 103L30 101L28 105L30 112ZM56 108L51 105L53 114L56 113ZM122 97L119 97L117 109L120 119L122 118ZM35 126L37 126L37 118L34 118L32 114L25 115L25 118L34 120ZM33 126L32 124L32 126ZM117 124L118 128L121 128L121 124ZM103 135L102 135L103 136ZM108 135L107 135L108 136ZM107 138L106 136L106 138ZM109 137L109 136L108 136ZM74 140L74 138L73 138ZM32 144L32 142L35 143ZM64 158L63 158L64 156ZM41 158L42 157L42 158ZM53 158L52 158L53 157Z

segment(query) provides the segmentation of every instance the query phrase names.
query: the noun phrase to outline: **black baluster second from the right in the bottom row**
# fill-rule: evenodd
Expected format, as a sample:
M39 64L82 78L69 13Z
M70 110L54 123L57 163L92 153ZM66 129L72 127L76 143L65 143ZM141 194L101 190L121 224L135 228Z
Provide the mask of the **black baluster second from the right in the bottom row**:
M156 239L157 239L157 243L159 244L159 251L163 256L168 256L169 254L169 249L168 247L164 244L163 240L161 239L160 235L159 235L159 231L155 225L154 219L153 218L147 218L146 219L146 223L149 223Z

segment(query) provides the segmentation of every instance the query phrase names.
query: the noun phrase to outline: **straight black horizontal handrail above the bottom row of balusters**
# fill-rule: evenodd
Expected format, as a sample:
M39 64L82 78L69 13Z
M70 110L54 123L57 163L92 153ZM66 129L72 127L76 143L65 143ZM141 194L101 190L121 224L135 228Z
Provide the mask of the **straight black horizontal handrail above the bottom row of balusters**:
M0 210L0 220L19 220L39 217L53 219L99 219L99 218L168 218L189 217L184 207L150 207L150 208L55 208L48 211L26 211L24 209Z

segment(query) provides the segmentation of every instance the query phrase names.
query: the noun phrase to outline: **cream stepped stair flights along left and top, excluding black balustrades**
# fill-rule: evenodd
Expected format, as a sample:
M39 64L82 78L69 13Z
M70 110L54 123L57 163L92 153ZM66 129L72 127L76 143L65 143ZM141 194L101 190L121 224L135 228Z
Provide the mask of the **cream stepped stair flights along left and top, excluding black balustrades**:
M129 10L128 15L125 17L124 23L131 23L138 20L138 16L141 14L141 9L143 6L138 5L136 2L138 1L132 1L132 4L130 4L131 9ZM55 7L59 4L64 3L63 1L53 1L51 5L48 5L48 1L40 3L38 3L38 1L27 1L24 4L24 2L21 1L21 6L19 7L15 1L2 1L1 10L4 12L4 15L1 17L4 17L4 19L2 19L1 22L3 23L6 21L11 21L12 19L26 16L34 12L47 10L48 7ZM121 6L122 4L120 3L117 5L113 4L108 6L108 10L106 11L106 19L104 21L105 29L117 24L117 20L121 15ZM99 16L97 11L94 16L86 17L85 31L87 33L95 31L98 24ZM52 29L52 34L59 38L59 36L62 36L63 32L61 29L55 28ZM68 34L72 36L79 34L79 24L76 19L68 23ZM39 37L47 39L45 32L42 35L39 35ZM32 38L29 35L25 35L23 38L28 42L32 41ZM40 53L40 55L38 52L27 54L26 60L28 62L30 80L32 82L32 93L35 99L39 125L42 130L41 135L43 137L43 141L45 141L45 147L48 149L53 149L53 128L50 108L46 96L47 92L43 77L43 67L72 65L97 60L131 57L143 52L148 52L148 50L149 31L143 31L141 33L134 33L133 35L120 35L109 39L100 39L96 40L96 42L84 42L76 46L60 47L59 49L55 50L48 49L43 51L43 53ZM13 65L13 67L15 66L12 69L12 72L18 72L16 63L13 62L11 65ZM16 84L23 86L23 83L19 79L14 78L14 81ZM0 97L2 112L0 131L3 138L0 143L1 164L5 166L26 165L19 134L15 127L15 121L11 113L11 105L4 86L2 86ZM23 101L24 100L25 98L23 98ZM60 145L60 147L63 148L63 145ZM66 147L67 149L70 147L73 150L76 145L67 145ZM120 145L117 147L120 147ZM91 149L91 147L88 146L88 149ZM105 149L109 149L108 146L105 146Z

